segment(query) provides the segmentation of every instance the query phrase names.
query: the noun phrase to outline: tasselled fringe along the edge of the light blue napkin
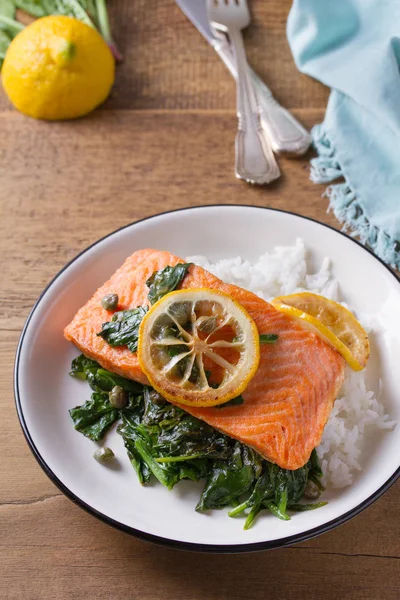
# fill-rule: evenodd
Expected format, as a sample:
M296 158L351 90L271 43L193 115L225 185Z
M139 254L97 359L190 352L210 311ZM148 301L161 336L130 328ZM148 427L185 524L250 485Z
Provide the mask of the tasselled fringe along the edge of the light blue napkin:
M328 186L324 192L323 196L329 199L328 211L332 210L343 224L342 231L351 229L352 237L359 237L379 258L391 267L400 269L399 243L368 221L356 193L343 173L336 149L323 124L316 125L311 134L318 153L318 156L311 160L311 181L329 183L338 178L344 179L343 183Z

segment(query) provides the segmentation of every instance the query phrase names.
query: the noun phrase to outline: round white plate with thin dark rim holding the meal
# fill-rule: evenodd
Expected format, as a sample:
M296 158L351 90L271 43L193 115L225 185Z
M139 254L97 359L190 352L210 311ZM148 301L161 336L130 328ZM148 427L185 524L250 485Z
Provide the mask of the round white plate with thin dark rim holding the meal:
M140 248L178 256L206 254L216 260L241 255L255 259L276 245L304 239L314 266L328 256L343 295L358 311L375 315L373 373L381 378L384 403L400 420L400 285L372 253L345 235L310 219L250 206L184 209L133 223L85 250L50 283L33 308L21 336L15 366L15 395L28 443L45 472L74 502L128 533L193 550L238 552L279 547L343 523L378 498L400 474L400 427L377 435L364 470L348 488L327 491L326 507L297 513L284 522L261 516L249 531L226 510L194 511L201 485L183 482L169 492L160 484L141 487L122 439L107 440L119 468L92 457L94 444L77 433L68 409L88 399L86 384L68 376L77 350L62 331L76 310L124 259Z

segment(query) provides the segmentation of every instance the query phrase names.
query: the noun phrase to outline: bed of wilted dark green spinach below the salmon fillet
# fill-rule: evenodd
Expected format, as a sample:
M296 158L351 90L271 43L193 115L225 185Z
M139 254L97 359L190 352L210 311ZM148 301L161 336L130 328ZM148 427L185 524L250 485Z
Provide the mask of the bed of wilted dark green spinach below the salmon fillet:
M300 504L308 481L321 486L315 451L304 467L286 471L170 404L152 388L114 375L83 355L72 362L71 375L94 390L90 401L70 411L75 428L98 441L120 419L117 431L142 484L155 477L171 489L182 479L205 479L196 510L231 506L230 516L246 511L245 529L265 510L288 520L290 510L314 510L326 504ZM120 410L108 400L114 385L129 394L127 406Z

